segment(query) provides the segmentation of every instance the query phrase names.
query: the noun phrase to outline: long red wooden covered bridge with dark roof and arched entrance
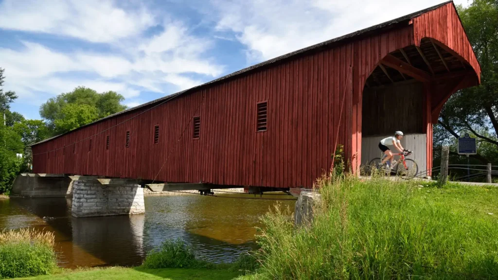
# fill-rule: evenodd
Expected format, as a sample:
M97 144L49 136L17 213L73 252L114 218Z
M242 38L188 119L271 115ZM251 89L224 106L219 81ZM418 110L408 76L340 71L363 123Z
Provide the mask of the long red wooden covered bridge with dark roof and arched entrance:
M336 144L359 172L397 130L425 170L441 108L480 73L445 2L38 142L33 172L311 187Z

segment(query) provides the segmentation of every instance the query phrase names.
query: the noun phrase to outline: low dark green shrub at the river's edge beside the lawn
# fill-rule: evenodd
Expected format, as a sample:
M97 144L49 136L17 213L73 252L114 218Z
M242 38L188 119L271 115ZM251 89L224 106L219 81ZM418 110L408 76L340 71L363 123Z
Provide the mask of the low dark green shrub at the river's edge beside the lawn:
M181 239L166 240L154 248L143 261L146 269L194 268L204 264L198 261L192 249Z

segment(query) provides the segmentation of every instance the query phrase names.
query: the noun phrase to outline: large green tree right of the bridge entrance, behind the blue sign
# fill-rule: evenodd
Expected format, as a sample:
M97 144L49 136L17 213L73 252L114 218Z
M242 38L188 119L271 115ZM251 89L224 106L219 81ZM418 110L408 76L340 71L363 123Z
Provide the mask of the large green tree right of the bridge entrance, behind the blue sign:
M469 132L479 143L475 163L497 163L498 1L474 0L468 7L457 8L481 64L481 85L458 91L445 104L434 127L434 149L452 144L452 162L466 161L456 155L456 138Z

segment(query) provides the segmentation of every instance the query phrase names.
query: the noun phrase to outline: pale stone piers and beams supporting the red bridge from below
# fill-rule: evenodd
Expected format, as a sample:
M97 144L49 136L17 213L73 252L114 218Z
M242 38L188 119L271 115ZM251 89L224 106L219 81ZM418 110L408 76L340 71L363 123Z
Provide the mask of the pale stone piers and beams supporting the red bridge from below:
M206 183L163 183L141 179L107 178L66 174L20 174L14 181L12 194L23 197L72 197L74 217L135 215L145 213L144 190L177 192L197 190L213 194L213 189L244 188L243 186ZM247 193L287 191L288 189L245 187Z

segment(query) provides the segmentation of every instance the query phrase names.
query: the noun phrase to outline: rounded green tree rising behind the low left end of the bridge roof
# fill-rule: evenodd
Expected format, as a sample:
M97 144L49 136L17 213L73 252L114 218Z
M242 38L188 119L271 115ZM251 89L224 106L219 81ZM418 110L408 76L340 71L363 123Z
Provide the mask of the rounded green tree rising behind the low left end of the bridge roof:
M78 87L72 92L50 98L40 106L51 135L62 134L126 109L124 97L114 91L97 91Z

